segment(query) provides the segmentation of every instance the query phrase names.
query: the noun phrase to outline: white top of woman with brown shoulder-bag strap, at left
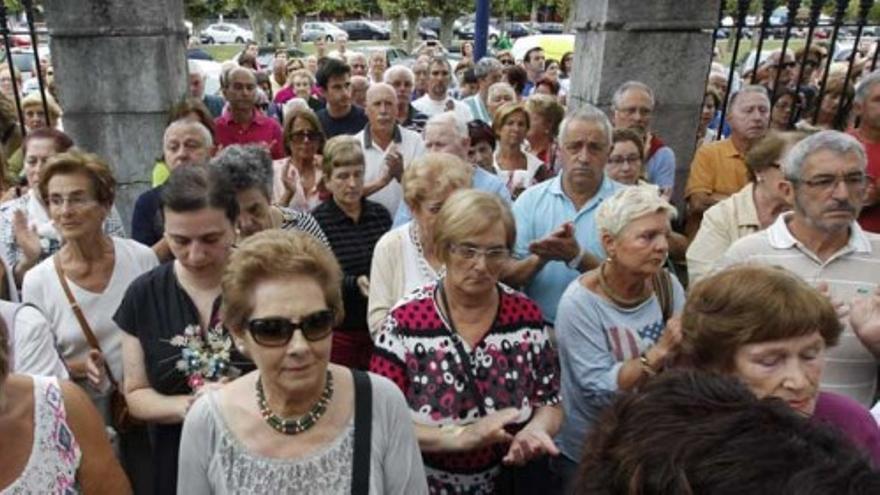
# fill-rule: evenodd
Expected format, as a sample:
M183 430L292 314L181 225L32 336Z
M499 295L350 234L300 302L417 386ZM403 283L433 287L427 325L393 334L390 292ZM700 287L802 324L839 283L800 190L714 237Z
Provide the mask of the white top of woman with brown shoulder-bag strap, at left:
M147 246L131 239L111 237L116 251L116 260L110 283L103 293L90 292L67 280L70 291L89 322L101 349L104 359L110 365L113 378L122 382L122 330L113 321L113 315L122 302L122 296L134 279L159 264L156 254ZM55 255L57 256L57 255ZM89 347L86 337L67 297L58 274L55 272L54 256L46 258L29 270L22 283L22 300L43 310L49 320L55 341L66 361L85 359Z

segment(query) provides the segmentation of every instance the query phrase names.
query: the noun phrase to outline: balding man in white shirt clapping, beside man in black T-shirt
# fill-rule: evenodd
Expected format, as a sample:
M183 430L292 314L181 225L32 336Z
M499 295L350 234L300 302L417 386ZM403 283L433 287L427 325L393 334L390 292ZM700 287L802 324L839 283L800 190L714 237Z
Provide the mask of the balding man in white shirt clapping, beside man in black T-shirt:
M369 122L355 135L364 149L364 195L394 215L403 199L403 169L425 147L417 133L397 125L397 94L391 85L371 85L366 99Z

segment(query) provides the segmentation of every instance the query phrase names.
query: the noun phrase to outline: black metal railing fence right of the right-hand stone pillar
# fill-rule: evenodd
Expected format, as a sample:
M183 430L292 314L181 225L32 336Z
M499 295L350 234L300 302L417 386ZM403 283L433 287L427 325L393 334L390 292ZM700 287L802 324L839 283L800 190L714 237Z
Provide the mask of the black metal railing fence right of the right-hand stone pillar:
M854 83L861 75L877 68L880 54L880 25L868 21L875 0L859 1L856 12L848 12L850 2L847 0L764 0L759 3L760 10L755 12L750 9L754 5L752 1L722 1L713 53L721 45L719 42L726 40L730 61L726 68L727 94L722 95L715 138L720 139L723 134L729 95L740 84L764 85L772 102L783 90L794 91L796 101L789 127L796 123L818 125L834 64L845 64L846 68L840 71L844 74L843 80L835 81L843 90L841 95L835 95L839 100L831 127L842 129L849 125ZM779 40L781 46L778 46ZM747 45L751 46L746 48ZM818 57L820 60L811 57L817 53L813 49L811 54L813 47L823 48L826 56ZM794 64L794 80L780 81L790 64ZM804 74L813 70L820 71L819 77L807 80ZM772 80L767 79L768 72ZM840 72L835 76L838 79Z

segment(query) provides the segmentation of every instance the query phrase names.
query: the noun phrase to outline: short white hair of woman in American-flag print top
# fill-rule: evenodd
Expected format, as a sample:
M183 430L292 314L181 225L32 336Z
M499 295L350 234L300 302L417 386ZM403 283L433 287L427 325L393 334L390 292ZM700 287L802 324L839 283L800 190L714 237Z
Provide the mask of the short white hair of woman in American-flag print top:
M676 215L675 207L660 195L657 186L627 186L599 205L596 227L599 232L617 237L633 220L653 213L665 213L670 220Z

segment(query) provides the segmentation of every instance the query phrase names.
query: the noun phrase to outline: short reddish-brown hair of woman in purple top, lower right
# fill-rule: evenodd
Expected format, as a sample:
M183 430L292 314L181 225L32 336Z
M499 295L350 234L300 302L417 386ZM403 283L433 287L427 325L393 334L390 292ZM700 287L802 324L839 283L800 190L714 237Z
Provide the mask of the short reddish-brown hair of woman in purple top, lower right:
M738 265L691 289L681 319L683 364L729 372L746 344L818 331L831 347L842 328L831 301L779 267Z

